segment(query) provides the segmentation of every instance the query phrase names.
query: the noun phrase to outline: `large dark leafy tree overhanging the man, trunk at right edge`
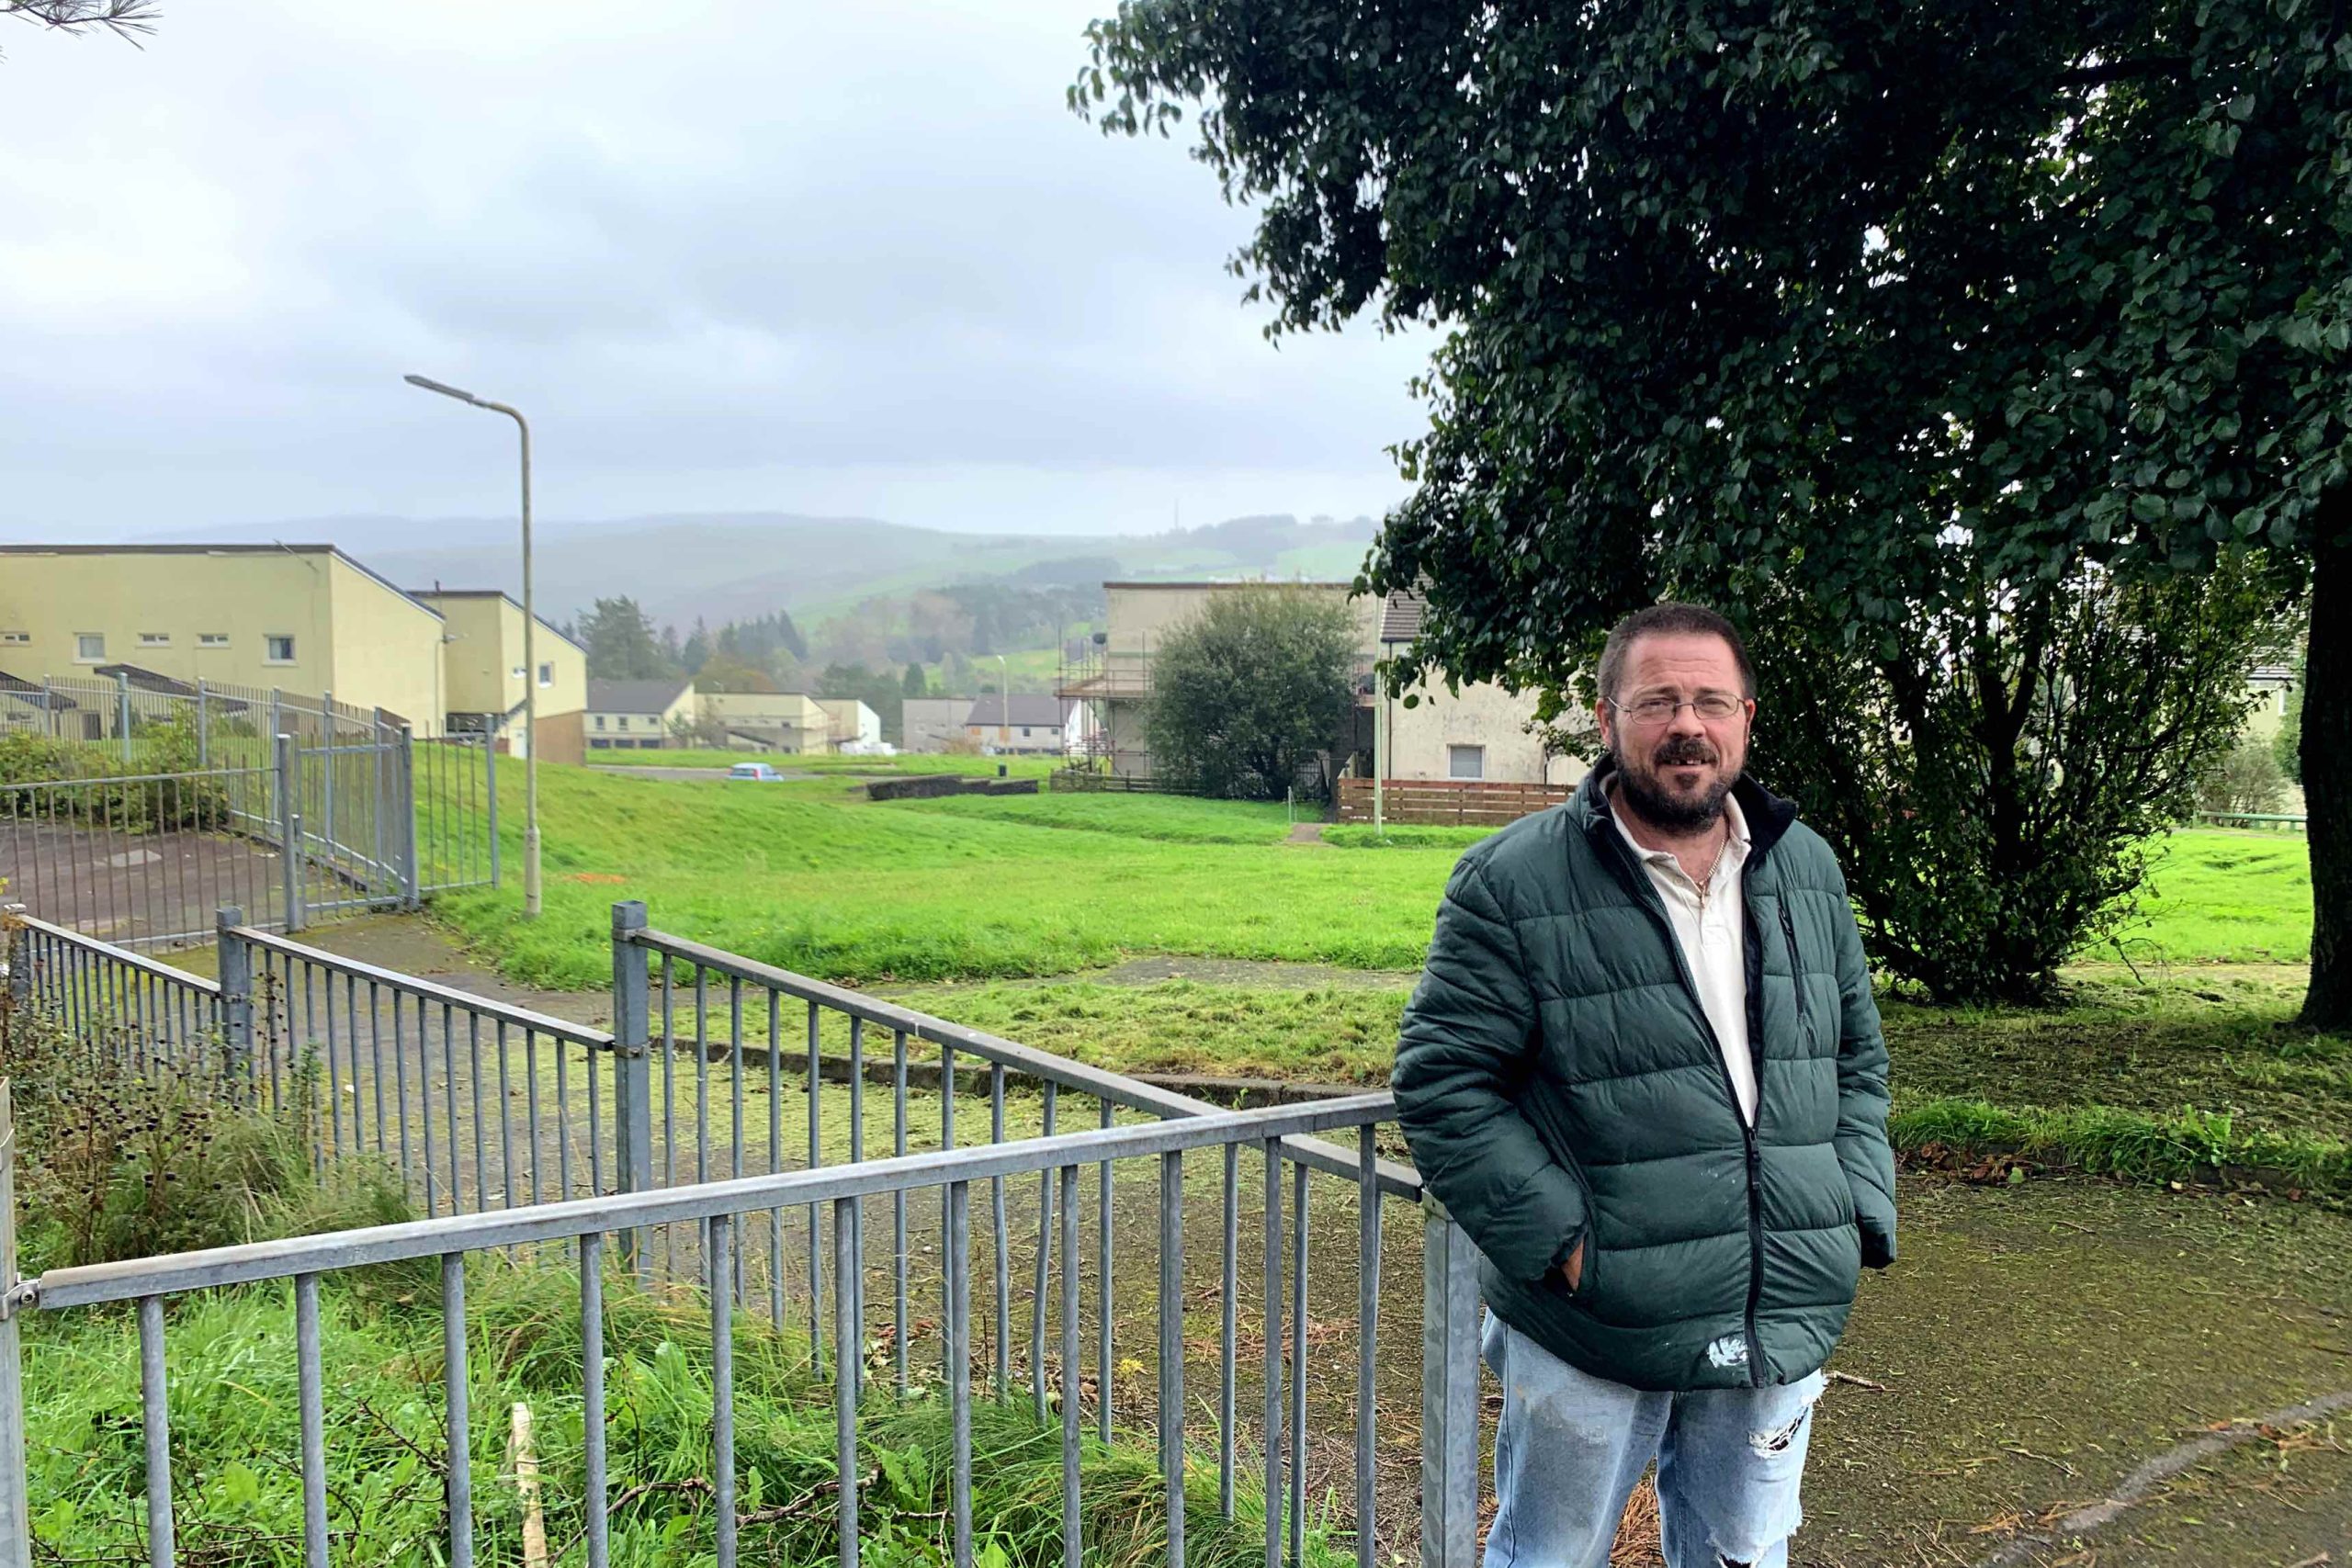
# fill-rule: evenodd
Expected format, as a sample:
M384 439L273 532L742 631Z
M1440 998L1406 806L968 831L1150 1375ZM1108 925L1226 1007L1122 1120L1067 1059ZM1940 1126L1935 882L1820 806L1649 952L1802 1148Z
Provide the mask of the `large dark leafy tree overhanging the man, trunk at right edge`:
M1425 583L1402 677L1557 686L1661 592L1790 604L1792 649L1891 677L1922 616L2056 625L2086 567L2307 574L2305 1016L2343 1025L2343 45L2296 0L1129 0L1073 103L1204 106L1275 334L1449 329L1367 574Z

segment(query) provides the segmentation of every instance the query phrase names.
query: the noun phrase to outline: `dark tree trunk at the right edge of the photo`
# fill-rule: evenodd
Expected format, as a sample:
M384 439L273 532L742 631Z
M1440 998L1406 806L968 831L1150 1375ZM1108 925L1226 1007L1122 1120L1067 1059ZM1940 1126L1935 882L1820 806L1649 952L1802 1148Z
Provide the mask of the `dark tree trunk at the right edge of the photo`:
M2303 811L2312 849L2312 987L2303 1023L2352 1030L2352 491L2314 520L2312 639L2303 686Z

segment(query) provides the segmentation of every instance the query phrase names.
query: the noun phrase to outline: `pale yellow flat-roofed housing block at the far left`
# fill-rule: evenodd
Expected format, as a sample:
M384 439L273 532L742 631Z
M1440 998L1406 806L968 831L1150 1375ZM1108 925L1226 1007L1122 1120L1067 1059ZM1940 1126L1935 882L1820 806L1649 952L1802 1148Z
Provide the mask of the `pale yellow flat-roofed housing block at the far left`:
M120 682L332 696L419 738L482 729L466 715L494 712L503 693L475 682L480 656L496 644L503 668L522 663L522 611L508 628L487 611L499 599L412 595L334 545L0 545L0 691L14 693L0 724L54 726L71 712L78 733L111 733L113 708L73 693ZM546 621L539 632L550 755L550 726L560 738L581 710L586 654ZM508 741L520 750L520 726Z

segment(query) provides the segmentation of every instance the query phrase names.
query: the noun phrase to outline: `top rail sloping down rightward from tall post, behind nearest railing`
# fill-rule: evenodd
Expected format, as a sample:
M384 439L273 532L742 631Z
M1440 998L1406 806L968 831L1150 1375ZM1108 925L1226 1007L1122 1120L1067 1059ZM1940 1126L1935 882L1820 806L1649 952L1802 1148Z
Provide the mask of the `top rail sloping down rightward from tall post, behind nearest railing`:
M670 931L644 926L616 931L614 936L616 940L628 940L652 952L684 959L696 969L734 976L736 980L750 980L764 990L800 997L802 1001L835 1009L849 1018L863 1018L866 1023L882 1025L884 1030L903 1030L906 1034L927 1039L934 1046L969 1051L983 1063L997 1063L1037 1079L1049 1079L1063 1088L1075 1088L1077 1093L1096 1095L1115 1105L1124 1105L1127 1110L1150 1112L1155 1117L1223 1114L1223 1107L1211 1105L1209 1100L1195 1100L1192 1095L1176 1093L1174 1088L1160 1088L1157 1084L1131 1079L1124 1072L1089 1067L1087 1063L1075 1063L1065 1056L1054 1056L1051 1051L1023 1046L1021 1041L1004 1039L1002 1034L988 1034L985 1030L948 1023L946 1018L934 1018L931 1013L917 1013L915 1009L896 1006L842 985L811 980L809 976L793 973L790 969L760 964L757 959L746 959ZM1357 1173L1355 1150L1341 1150L1338 1145L1312 1138L1289 1140L1284 1145L1284 1154L1308 1168L1324 1171L1327 1175L1352 1178ZM1376 1161L1376 1180L1381 1182L1383 1197L1421 1201L1421 1173L1411 1166L1381 1159Z

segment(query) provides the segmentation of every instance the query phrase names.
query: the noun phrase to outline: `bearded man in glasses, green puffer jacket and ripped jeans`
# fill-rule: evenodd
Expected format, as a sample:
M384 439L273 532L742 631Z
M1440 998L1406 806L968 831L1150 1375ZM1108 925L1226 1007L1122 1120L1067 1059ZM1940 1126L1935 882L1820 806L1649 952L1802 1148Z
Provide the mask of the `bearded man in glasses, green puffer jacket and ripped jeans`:
M1599 1568L1658 1460L1672 1568L1776 1568L1820 1363L1896 1255L1886 1044L1830 849L1740 773L1715 611L1609 635L1606 755L1463 856L1397 1044L1414 1161L1484 1253L1489 1568Z

